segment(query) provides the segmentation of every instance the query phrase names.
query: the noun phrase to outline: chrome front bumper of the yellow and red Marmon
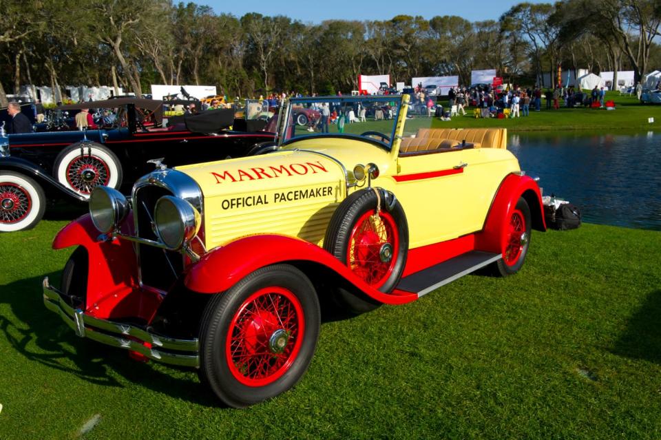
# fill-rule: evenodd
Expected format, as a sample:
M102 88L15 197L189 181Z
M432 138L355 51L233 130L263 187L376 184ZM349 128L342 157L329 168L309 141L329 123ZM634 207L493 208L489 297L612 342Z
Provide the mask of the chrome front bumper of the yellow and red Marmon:
M85 315L81 309L74 309L63 300L63 294L48 283L48 277L43 279L43 304L50 311L58 313L80 337L88 337L102 344L132 350L164 364L200 366L198 339L173 339L149 333L129 324ZM151 348L145 346L144 342L151 344ZM182 353L171 353L170 350Z

